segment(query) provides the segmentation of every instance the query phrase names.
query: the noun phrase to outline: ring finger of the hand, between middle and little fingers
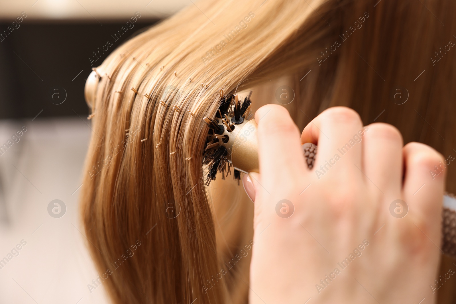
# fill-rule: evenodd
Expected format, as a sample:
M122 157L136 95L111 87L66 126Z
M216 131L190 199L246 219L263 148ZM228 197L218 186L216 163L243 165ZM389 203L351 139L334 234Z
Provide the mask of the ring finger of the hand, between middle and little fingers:
M369 124L364 130L361 170L368 178L367 185L379 195L389 196L387 200L401 194L403 145L399 130L390 124Z

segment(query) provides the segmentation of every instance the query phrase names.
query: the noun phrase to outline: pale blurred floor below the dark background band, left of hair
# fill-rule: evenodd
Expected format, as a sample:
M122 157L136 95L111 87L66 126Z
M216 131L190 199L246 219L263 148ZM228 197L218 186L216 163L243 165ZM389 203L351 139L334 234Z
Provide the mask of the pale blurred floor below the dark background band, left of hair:
M0 121L0 303L108 303L103 287L88 288L97 273L78 216L83 119ZM48 212L55 199L62 217Z

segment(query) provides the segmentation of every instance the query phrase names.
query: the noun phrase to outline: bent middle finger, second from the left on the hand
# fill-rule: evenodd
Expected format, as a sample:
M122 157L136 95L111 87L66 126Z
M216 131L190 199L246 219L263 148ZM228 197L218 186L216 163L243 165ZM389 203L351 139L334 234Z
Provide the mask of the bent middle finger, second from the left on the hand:
M359 134L363 123L358 113L347 107L328 108L313 119L301 134L301 143L318 144L316 167L329 170L332 165L341 161L354 169L353 165L361 167L362 145L359 144ZM328 165L329 163L329 165ZM342 170L338 165L339 170ZM332 170L332 169L331 169Z

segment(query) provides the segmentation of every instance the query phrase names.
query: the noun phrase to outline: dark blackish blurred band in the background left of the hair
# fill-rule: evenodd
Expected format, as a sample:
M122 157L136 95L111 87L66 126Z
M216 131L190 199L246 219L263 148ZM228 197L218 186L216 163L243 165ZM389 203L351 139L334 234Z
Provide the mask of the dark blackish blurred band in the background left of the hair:
M142 15L128 25L129 18L100 20L101 26L93 20L30 19L9 34L15 19L0 21L0 119L33 119L38 113L39 118L78 113L85 119L83 88L91 68L157 21Z

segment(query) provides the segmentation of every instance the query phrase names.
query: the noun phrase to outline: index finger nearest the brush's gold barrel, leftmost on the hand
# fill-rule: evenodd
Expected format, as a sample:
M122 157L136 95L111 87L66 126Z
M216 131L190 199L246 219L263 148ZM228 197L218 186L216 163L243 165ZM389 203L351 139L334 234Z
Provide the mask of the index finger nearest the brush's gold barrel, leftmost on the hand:
M261 175L279 184L305 172L299 130L288 111L268 104L257 110L258 156Z

